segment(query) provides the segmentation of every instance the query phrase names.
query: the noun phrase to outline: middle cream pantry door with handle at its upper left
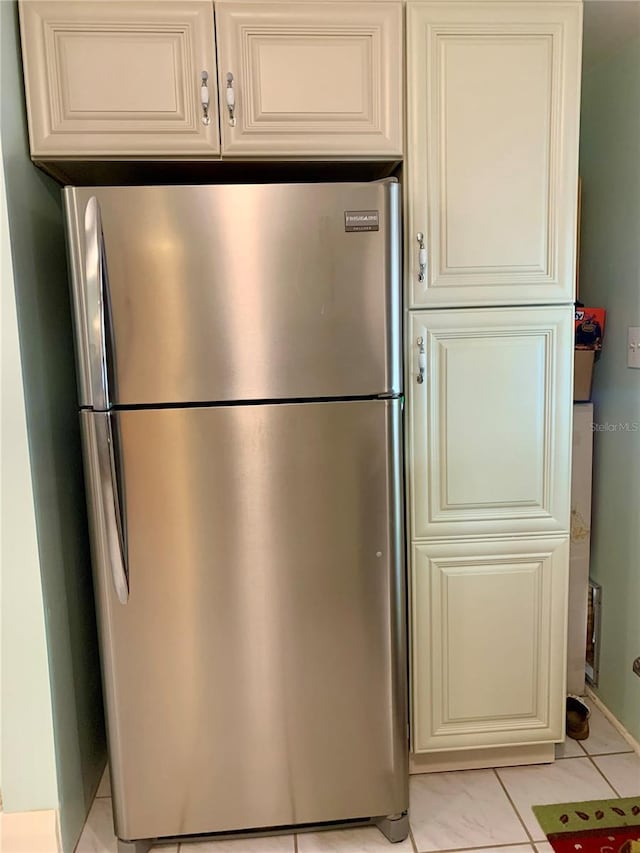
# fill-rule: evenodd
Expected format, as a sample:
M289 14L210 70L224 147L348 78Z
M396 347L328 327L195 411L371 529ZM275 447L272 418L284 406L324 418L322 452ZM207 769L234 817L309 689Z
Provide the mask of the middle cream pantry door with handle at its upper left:
M411 539L569 530L572 332L571 306L412 314Z

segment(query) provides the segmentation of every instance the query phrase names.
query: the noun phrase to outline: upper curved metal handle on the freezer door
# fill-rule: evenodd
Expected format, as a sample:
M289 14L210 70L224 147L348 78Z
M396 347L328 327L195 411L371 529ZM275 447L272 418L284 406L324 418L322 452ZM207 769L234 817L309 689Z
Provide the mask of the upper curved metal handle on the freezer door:
M109 408L106 335L107 268L102 217L100 205L95 196L91 196L85 208L84 230L91 400L94 409L104 411Z

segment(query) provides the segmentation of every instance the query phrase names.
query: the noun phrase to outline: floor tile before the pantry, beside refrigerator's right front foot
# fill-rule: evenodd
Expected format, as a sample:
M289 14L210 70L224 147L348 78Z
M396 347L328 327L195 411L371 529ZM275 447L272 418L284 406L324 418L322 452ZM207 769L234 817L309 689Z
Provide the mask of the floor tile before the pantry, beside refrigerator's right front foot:
M529 840L493 770L412 776L409 790L419 853Z

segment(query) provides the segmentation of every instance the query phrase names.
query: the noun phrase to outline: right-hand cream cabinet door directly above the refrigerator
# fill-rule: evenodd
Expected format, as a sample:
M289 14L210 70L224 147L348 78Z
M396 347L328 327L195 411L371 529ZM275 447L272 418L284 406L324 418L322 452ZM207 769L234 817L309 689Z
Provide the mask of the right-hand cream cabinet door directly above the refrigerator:
M402 154L402 4L216 3L224 155Z

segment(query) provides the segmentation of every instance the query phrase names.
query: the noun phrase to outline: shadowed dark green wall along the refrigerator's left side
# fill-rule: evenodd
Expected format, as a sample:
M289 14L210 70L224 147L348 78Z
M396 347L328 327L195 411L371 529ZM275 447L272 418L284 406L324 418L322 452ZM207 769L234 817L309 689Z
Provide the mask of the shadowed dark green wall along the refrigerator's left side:
M0 15L0 109L9 237L49 657L60 824L64 849L71 851L105 763L105 736L65 240L60 187L29 160L15 0L1 2ZM3 650L6 660L4 643ZM6 723L5 718L3 725ZM7 738L11 736L9 731ZM9 767L3 764L8 807ZM18 807L34 806L22 800L20 806L14 806Z

